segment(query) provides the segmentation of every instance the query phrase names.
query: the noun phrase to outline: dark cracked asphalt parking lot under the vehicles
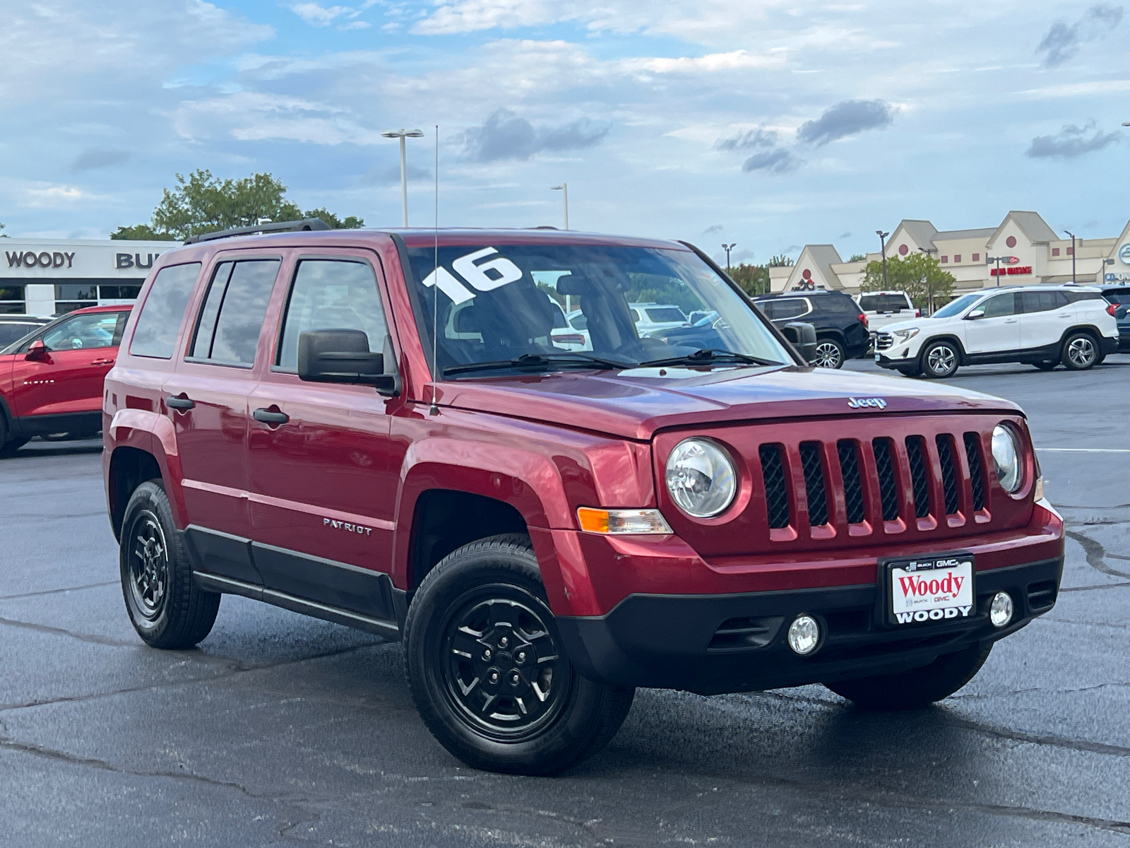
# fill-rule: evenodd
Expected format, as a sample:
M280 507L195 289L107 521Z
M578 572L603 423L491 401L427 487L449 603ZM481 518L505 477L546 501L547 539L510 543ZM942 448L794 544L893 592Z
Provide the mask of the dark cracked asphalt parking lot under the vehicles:
M0 460L0 842L1130 846L1130 356L953 382L1031 417L1070 535L1054 609L916 712L641 691L553 779L462 767L366 633L227 596L198 650L144 647L101 442L33 442Z

